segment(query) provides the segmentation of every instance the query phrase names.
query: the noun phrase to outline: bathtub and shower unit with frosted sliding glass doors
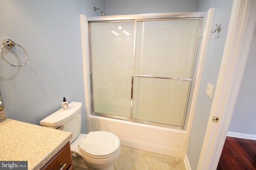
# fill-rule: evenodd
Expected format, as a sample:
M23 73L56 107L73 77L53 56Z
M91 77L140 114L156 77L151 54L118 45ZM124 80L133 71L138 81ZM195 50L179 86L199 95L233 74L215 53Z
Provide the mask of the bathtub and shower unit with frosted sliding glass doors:
M206 15L81 16L88 131L184 157Z

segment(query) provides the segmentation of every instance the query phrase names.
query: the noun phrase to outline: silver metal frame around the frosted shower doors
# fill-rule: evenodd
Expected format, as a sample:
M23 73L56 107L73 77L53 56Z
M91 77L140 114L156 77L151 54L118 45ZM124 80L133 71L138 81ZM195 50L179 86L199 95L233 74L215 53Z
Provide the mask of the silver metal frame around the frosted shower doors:
M125 120L125 121L132 121L136 123L144 123L148 125L155 125L159 127L167 127L167 128L174 128L174 129L179 129L186 131L186 125L188 123L188 116L190 112L190 106L191 106L191 101L192 101L192 95L193 95L193 88L195 84L195 79L196 79L196 72L198 68L198 61L199 61L199 55L200 55L200 47L202 44L202 35L204 32L204 25L206 22L206 15L207 12L182 12L182 13L165 13L165 14L138 14L138 15L125 15L125 16L100 16L100 17L88 17L88 35L89 35L89 62L90 62L90 96L91 96L91 101L90 101L90 115L95 115L95 116L101 116L101 117L108 117L108 118L115 118L115 119L120 119L120 120ZM199 19L200 24L199 24L199 29L198 29L198 37L197 37L197 43L196 43L196 50L195 50L195 56L194 56L194 63L193 63L193 68L192 68L192 78L180 78L179 80L181 81L190 81L189 85L189 90L188 90L188 97L187 97L187 102L186 102L186 108L184 112L184 118L183 118L183 123L182 126L175 126L175 125L167 125L167 124L162 124L162 123L155 123L152 121L144 121L144 120L139 120L139 119L133 119L132 118L132 94L133 94L133 78L138 77L139 75L134 74L134 60L135 60L135 41L136 41L136 21L147 21L147 20L186 20L186 19ZM93 80L92 80L92 54L91 54L91 36L90 36L90 22L115 22L115 21L134 21L134 47L133 47L133 63L132 63L132 84L131 84L131 109L130 109L130 117L121 117L117 115L108 115L105 113L97 113L94 112L94 104L93 104ZM147 75L142 75L139 77L149 77L149 78L164 78L164 79L173 79L173 78L168 78L168 77L155 77L155 76L147 76ZM189 106L189 107L188 107Z

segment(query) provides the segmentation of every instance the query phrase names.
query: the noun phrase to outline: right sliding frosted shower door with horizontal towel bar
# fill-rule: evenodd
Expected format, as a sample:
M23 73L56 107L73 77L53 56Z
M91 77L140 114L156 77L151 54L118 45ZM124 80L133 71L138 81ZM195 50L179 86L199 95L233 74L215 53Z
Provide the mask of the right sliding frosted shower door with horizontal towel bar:
M132 118L182 127L200 20L137 21Z

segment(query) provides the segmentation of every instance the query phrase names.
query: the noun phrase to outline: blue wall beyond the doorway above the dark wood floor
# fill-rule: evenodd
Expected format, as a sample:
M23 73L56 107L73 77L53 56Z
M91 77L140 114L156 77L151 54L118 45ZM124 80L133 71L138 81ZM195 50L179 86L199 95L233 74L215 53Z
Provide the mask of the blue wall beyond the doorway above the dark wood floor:
M255 17L255 16L254 16ZM232 116L230 132L256 135L256 27L246 62L236 106Z

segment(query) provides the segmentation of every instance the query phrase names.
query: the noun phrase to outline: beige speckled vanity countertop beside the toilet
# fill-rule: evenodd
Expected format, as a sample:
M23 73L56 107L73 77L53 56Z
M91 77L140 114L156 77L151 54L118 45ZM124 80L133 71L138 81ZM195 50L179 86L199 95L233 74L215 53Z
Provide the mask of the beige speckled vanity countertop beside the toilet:
M28 170L39 170L71 138L68 132L6 119L0 123L0 160L28 161Z

